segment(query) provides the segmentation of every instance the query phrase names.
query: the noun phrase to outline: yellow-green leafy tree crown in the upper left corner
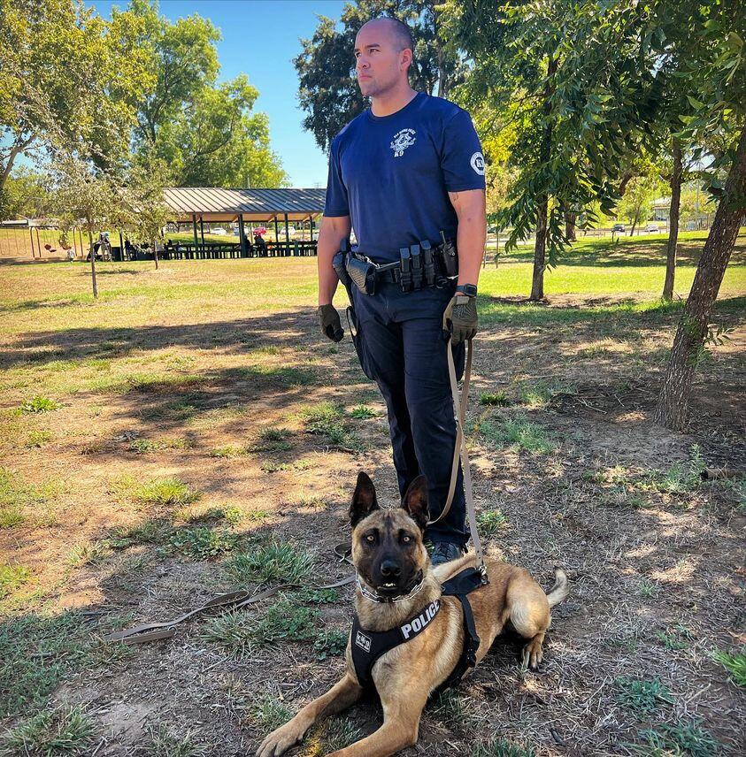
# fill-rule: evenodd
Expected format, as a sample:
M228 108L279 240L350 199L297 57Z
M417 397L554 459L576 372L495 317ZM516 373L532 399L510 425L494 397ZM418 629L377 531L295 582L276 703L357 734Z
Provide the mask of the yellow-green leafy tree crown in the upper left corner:
M152 83L139 23L73 0L0 0L0 192L21 154L84 140L98 164L125 156Z

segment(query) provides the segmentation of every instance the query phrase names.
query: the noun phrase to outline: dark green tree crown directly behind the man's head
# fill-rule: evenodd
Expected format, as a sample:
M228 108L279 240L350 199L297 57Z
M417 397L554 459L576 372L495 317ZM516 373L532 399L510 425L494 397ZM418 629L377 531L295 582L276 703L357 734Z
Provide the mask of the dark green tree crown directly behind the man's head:
M441 34L439 4L433 0L358 0L345 4L341 32L336 31L334 19L319 16L318 27L310 40L301 40L303 50L293 63L299 80L298 99L308 114L303 125L321 149L328 149L342 126L365 110L367 103L354 76L352 50L358 29L379 16L396 17L411 29L412 88L446 97L463 79L465 67L457 50Z

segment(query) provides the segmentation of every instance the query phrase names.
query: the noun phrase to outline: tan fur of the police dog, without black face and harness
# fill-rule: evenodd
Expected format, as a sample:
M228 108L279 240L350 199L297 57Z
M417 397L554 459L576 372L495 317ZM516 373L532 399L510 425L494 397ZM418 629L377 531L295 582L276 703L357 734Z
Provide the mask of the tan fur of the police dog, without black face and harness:
M361 535L372 527L381 530L407 529L415 533L416 545L404 560L411 570L423 570L424 585L411 600L396 604L379 604L365 599L358 590L355 608L360 624L371 631L385 631L404 623L441 595L441 583L460 570L474 566L473 554L447 562L435 569L430 565L419 529L404 509L375 510L360 521L352 532L352 559L358 574L366 581L371 561ZM511 621L519 634L527 639L524 664L536 668L542 661L542 642L550 625L550 600L526 570L504 562L488 560L489 584L469 594L474 622L481 643L477 661L481 661L496 636ZM565 574L558 571L552 589L551 604L565 598ZM455 597L442 597L442 609L424 631L400 646L383 654L373 665L372 676L383 706L383 725L360 741L329 757L388 757L406 746L415 744L419 718L427 698L454 669L464 642L462 610ZM347 672L326 694L313 700L291 721L269 734L259 746L257 757L278 757L302 738L313 723L350 707L363 692L358 685L352 663L350 642L347 646Z

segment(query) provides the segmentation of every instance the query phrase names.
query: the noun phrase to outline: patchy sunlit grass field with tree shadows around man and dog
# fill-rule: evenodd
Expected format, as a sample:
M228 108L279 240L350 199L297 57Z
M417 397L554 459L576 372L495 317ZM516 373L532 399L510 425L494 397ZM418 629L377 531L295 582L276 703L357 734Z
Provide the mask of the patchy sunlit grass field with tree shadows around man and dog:
M746 236L688 432L650 423L703 233L580 241L529 304L530 251L480 282L468 413L488 552L548 586L538 674L500 638L431 702L444 757L743 753ZM318 333L311 258L0 264L0 753L238 755L340 676L358 470L396 505L385 409L350 340ZM338 296L342 307L344 296ZM143 646L103 636L215 593L303 589ZM365 700L311 732L371 732Z

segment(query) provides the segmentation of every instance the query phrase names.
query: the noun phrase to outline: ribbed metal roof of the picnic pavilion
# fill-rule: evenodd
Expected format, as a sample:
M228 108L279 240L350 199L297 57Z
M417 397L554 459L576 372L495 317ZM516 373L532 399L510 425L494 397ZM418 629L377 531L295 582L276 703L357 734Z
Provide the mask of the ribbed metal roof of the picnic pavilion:
M303 221L324 212L326 189L222 189L219 187L168 187L165 203L174 211L174 221L232 222Z

